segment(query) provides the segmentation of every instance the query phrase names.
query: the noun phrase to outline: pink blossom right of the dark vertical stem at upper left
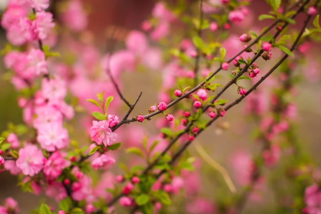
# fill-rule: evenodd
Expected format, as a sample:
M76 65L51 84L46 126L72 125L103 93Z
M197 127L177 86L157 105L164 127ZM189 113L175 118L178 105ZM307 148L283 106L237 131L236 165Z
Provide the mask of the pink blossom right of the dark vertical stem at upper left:
M55 26L52 20L52 13L40 11L32 22L33 36L35 40L44 40Z

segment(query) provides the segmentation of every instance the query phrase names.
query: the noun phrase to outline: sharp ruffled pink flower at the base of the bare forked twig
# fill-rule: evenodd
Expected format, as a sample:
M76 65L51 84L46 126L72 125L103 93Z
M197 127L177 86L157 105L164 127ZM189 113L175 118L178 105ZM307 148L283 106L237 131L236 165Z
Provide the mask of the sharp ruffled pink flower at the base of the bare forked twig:
M93 121L90 128L91 140L98 145L110 146L117 141L118 135L108 127L108 121Z

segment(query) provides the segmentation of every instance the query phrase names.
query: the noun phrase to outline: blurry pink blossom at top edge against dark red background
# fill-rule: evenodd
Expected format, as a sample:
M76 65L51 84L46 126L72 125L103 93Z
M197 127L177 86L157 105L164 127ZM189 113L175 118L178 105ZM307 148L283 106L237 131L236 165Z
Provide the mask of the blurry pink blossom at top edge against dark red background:
M73 31L82 31L88 25L88 17L79 0L68 1L67 8L62 14L63 23Z

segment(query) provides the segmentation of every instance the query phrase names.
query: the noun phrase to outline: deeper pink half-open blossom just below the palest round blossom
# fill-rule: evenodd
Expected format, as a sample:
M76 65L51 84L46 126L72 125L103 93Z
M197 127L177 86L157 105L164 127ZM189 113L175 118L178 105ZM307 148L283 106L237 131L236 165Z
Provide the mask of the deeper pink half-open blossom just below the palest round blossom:
M63 172L63 169L70 166L70 161L64 159L59 151L51 154L44 166L44 173L49 179L56 179Z

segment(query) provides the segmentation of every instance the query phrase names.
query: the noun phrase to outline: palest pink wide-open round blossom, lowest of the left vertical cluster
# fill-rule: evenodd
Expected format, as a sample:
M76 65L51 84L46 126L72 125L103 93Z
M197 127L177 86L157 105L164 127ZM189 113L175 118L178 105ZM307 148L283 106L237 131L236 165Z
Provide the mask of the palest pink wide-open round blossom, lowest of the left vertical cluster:
M37 141L47 151L66 148L69 144L68 131L60 123L47 123L38 129Z

